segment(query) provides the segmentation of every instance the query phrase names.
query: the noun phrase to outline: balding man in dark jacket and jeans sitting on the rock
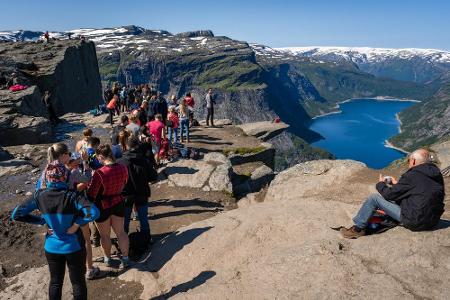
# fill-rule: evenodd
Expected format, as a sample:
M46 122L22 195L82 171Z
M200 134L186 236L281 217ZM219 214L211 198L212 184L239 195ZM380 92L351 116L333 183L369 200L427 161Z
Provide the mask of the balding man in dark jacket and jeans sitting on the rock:
M376 185L380 194L372 194L366 199L353 218L354 226L341 229L345 238L356 239L365 235L368 221L378 209L413 231L436 226L444 212L442 174L425 149L410 154L408 164L409 170L398 181L380 174Z

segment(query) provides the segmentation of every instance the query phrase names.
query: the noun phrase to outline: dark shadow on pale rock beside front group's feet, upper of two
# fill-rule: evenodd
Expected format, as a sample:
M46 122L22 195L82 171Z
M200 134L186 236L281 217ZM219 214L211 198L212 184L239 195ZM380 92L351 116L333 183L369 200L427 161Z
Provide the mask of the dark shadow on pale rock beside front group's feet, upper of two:
M184 246L192 243L193 240L211 228L213 227L193 228L181 233L176 232L175 234L169 235L152 249L148 262L148 270L158 272Z

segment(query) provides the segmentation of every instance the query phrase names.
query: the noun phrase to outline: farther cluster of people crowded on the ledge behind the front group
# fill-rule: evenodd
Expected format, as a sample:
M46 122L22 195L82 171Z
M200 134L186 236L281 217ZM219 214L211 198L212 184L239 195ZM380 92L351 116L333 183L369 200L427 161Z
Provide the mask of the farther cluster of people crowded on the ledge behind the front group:
M181 99L175 95L170 100L148 84L137 87L114 83L104 91L104 101L113 126L114 116L119 115L120 124L114 128L112 145L114 153L126 150L124 142L129 136L151 139L157 164L164 140L170 145L190 142L190 128L198 125L194 119L196 105L191 93ZM215 96L209 89L203 105L208 110L207 126L214 126Z

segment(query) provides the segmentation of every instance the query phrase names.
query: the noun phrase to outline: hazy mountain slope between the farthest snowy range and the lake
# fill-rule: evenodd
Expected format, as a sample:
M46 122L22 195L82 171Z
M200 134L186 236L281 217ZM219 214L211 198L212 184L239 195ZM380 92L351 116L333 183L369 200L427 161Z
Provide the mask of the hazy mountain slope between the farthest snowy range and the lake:
M252 44L258 61L268 68L279 68L285 77L302 77L315 97L303 97L302 104L311 116L335 110L337 102L349 98L386 96L427 100L437 90L436 85L380 78L361 71L347 60L324 61ZM286 80L285 80L286 81Z

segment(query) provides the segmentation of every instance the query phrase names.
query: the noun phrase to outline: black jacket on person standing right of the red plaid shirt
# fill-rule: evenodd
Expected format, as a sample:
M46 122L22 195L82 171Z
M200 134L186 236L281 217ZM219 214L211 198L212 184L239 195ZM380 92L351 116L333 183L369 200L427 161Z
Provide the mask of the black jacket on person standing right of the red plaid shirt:
M128 168L128 182L122 195L125 197L148 198L150 197L149 182L156 180L155 169L151 161L144 157L140 149L127 151L118 160Z

